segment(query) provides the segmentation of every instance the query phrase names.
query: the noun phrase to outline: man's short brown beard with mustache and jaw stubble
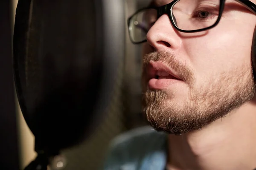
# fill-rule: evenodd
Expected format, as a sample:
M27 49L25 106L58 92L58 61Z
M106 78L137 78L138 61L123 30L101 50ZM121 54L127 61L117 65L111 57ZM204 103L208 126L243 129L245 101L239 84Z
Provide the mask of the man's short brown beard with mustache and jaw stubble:
M181 135L199 130L239 108L254 96L251 65L234 68L218 74L220 76L203 85L195 85L192 69L175 58L168 52L153 52L143 60L143 112L148 123L157 131ZM172 89L149 89L146 66L150 61L166 63L177 72L188 85L188 95L178 100Z

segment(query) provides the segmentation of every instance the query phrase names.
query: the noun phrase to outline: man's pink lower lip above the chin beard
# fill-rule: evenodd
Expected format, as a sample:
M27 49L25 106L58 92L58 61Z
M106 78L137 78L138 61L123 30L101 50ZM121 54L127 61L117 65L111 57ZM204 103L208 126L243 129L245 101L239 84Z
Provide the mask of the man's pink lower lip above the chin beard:
M150 79L148 82L148 88L161 90L179 82L181 82L181 80L178 79Z

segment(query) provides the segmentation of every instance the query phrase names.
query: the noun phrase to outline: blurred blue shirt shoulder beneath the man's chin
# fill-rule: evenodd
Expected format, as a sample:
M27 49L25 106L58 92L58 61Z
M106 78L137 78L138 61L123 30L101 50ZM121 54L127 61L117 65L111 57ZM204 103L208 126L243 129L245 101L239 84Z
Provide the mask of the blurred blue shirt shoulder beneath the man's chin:
M113 139L103 170L164 170L166 157L166 133L140 127Z

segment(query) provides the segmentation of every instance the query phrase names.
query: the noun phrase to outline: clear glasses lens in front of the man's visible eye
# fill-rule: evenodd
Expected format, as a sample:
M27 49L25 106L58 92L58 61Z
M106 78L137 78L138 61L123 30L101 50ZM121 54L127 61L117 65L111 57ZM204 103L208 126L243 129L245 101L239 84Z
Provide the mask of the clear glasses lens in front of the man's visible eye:
M219 16L220 0L179 0L171 16L177 28L194 31L214 25Z

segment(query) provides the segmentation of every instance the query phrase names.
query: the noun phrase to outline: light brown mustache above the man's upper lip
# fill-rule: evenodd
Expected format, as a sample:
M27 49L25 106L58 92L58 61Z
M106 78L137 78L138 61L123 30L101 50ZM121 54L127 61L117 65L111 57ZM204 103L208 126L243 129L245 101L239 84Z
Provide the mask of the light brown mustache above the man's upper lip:
M176 55L171 54L168 51L154 51L145 55L143 58L143 76L146 75L146 67L150 61L165 63L177 73L177 76L180 77L180 79L189 85L194 82L192 69L181 63L179 60L177 60Z

